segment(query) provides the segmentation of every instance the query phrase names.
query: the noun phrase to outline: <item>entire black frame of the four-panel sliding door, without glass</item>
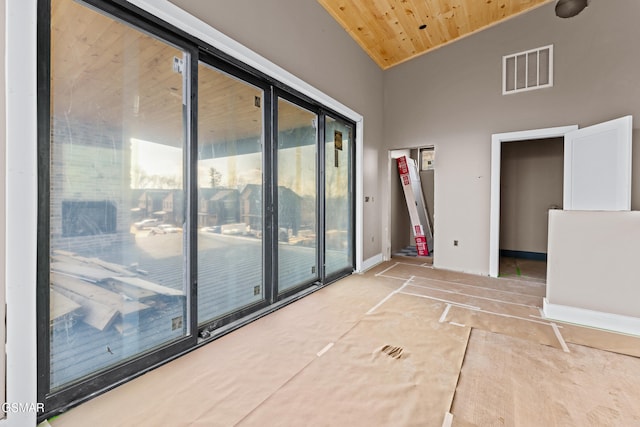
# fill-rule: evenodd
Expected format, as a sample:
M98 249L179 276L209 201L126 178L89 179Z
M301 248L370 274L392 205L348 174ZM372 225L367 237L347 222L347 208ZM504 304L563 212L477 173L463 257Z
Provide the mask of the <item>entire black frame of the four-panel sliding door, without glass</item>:
M49 272L50 272L50 148L51 148L51 2L38 0L37 4L37 127L38 127L38 224L37 224L37 290L36 310L39 336L37 340L37 398L45 403L45 411L38 414L38 422L67 411L95 396L109 391L122 383L130 381L145 372L189 353L226 333L229 333L263 315L291 303L315 289L326 286L355 270L355 141L356 123L344 115L333 111L322 103L280 82L233 56L220 51L194 37L182 29L169 24L151 13L129 3L126 0L75 0L85 7L130 25L167 41L190 55L190 87L187 138L188 181L185 184L187 202L188 230L188 310L190 313L190 334L176 342L143 353L131 360L90 375L64 386L55 392L50 391L50 329L49 329ZM267 304L251 306L246 310L219 319L215 324L198 325L197 317L197 170L192 165L197 162L197 101L198 101L198 64L202 61L243 81L264 89L264 146L263 164L263 261L265 280L265 300ZM277 151L277 99L307 108L318 115L318 280L297 286L278 294L277 291L277 182L275 156ZM351 152L350 186L354 197L351 198L350 236L354 256L352 266L344 271L325 277L324 272L324 145L325 116L339 119L353 129ZM268 250L276 248L276 250Z

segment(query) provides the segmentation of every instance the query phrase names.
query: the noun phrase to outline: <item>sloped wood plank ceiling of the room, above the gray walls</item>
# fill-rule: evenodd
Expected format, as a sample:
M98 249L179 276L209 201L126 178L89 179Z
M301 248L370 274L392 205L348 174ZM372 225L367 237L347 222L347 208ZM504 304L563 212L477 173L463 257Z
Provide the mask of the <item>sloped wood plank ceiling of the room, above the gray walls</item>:
M386 70L554 0L318 0Z

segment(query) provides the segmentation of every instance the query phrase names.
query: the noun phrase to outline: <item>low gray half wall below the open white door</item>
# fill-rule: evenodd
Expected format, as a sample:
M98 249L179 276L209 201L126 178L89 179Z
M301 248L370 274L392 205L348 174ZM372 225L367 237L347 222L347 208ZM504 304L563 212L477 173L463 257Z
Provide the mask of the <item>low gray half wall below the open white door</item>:
M640 212L555 211L550 214L549 228L545 314L638 335ZM593 250L594 246L599 250ZM558 305L555 308L560 308L563 316L550 315L548 304ZM565 308L601 314L582 315ZM623 325L635 327L623 330Z

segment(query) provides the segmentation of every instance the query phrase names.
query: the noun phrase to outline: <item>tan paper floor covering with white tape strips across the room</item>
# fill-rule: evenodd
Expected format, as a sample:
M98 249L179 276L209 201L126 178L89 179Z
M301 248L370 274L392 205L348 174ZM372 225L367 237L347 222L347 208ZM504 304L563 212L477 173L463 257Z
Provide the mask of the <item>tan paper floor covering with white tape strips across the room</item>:
M523 271L395 257L49 422L640 425L640 337L544 318L543 278Z

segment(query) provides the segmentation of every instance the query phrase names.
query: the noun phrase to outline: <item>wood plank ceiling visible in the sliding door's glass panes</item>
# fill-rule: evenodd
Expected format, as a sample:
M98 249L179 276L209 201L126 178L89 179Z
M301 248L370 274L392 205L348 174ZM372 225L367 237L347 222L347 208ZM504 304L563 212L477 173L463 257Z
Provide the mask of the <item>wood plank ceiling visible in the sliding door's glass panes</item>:
M125 138L185 144L183 52L73 0L52 1L52 126L121 128ZM198 143L260 139L261 89L204 64L198 78ZM279 104L280 130L310 125L309 113Z

